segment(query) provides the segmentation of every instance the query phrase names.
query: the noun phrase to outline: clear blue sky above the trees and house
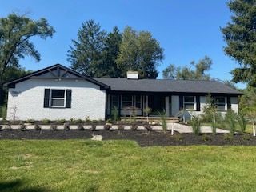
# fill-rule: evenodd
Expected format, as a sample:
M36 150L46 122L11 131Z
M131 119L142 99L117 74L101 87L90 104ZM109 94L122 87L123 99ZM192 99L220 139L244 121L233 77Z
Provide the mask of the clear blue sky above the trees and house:
M170 63L188 66L208 55L213 60L210 75L230 80L230 70L238 63L223 51L221 27L230 22L228 0L0 0L0 17L15 12L28 14L30 18L46 18L56 33L53 38L32 38L41 54L41 61L33 58L21 60L26 70L40 70L60 63L70 66L66 60L71 40L77 38L82 22L94 19L102 29L110 31L114 26L123 30L131 26L135 30L148 30L160 42L165 58L158 66L158 78ZM243 87L238 84L238 87Z

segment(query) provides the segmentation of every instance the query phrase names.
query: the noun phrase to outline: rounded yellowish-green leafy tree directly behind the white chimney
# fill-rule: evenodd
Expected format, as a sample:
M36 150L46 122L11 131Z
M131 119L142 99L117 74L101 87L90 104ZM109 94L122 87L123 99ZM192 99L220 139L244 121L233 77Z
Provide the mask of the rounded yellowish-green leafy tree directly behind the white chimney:
M156 67L162 59L163 49L150 32L137 32L126 26L117 59L123 77L127 70L138 70L140 78L157 78Z

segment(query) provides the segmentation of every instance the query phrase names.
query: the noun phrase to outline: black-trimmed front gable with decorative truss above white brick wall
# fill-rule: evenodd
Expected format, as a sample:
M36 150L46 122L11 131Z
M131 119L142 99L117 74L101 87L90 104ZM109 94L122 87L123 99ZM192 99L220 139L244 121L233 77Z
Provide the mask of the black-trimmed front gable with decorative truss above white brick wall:
M56 64L54 66L46 67L42 70L35 71L31 74L27 74L22 78L16 78L10 82L6 82L5 85L9 88L14 88L18 82L26 81L30 78L65 78L65 79L84 79L88 82L92 82L101 87L102 90L110 89L109 86L105 85L102 82L98 82L94 78L87 77L85 75L79 74L78 72L71 70L66 66L62 66L61 64Z

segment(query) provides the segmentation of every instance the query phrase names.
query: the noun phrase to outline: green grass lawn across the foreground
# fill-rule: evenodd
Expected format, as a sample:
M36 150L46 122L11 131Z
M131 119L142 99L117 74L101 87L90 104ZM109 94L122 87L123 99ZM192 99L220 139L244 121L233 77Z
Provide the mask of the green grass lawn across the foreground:
M254 191L256 147L0 141L0 191Z

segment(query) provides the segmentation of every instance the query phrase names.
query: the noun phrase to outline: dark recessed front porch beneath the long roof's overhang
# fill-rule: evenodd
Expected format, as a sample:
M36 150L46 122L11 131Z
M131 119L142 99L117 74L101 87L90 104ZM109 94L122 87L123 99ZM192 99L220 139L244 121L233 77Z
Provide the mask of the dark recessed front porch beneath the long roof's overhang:
M135 109L135 115L146 117L146 109L150 108L149 118L159 117L159 113L165 112L166 117L172 117L171 95L166 94L130 94L114 93L106 95L106 114L113 115L113 109L118 110L118 116L130 116L129 109Z

